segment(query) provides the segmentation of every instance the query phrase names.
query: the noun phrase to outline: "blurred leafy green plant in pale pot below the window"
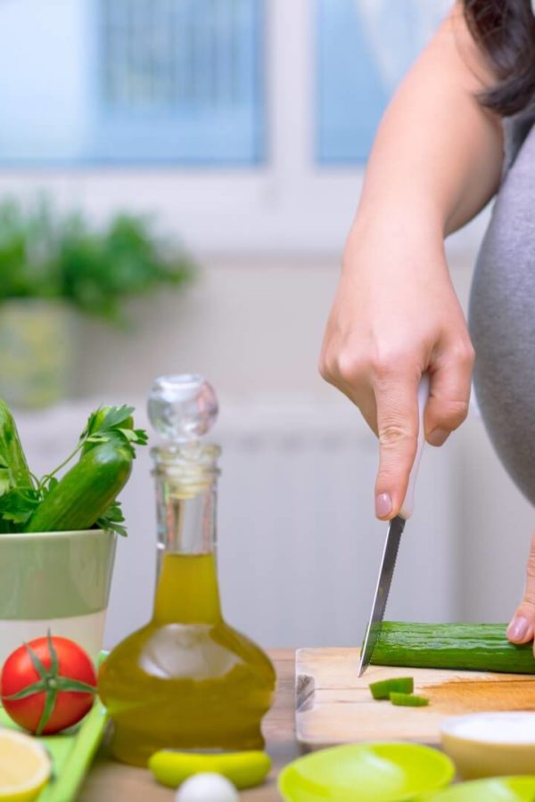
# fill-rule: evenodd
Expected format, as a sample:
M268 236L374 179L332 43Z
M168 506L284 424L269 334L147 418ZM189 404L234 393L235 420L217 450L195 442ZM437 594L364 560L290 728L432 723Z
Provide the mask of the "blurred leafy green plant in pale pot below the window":
M193 277L191 258L147 217L100 227L43 198L0 203L0 397L39 407L68 395L79 314L127 322L123 302Z

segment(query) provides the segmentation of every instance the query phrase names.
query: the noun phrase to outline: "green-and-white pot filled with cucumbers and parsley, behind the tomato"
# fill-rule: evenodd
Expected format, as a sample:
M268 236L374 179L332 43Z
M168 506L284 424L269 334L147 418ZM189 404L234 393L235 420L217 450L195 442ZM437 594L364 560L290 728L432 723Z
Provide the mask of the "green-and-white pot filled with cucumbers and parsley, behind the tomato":
M147 442L133 412L99 407L72 453L38 478L0 399L0 667L48 630L93 659L103 648L116 540L127 534L117 496Z

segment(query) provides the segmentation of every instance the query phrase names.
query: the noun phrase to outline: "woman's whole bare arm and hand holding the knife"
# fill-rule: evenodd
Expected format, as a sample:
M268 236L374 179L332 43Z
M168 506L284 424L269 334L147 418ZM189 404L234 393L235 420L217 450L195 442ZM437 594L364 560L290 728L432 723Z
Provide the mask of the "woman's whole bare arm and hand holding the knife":
M406 493L422 372L428 442L441 445L468 409L473 348L443 239L498 187L501 124L475 96L492 79L457 4L384 115L344 253L320 371L379 436L383 519Z

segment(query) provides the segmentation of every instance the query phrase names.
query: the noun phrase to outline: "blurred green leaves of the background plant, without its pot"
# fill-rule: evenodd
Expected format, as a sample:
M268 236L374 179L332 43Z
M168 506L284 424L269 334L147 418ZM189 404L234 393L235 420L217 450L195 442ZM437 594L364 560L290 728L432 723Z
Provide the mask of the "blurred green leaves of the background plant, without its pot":
M129 298L190 283L193 259L162 238L149 217L120 214L96 227L41 195L0 202L0 300L63 299L86 315L124 325Z

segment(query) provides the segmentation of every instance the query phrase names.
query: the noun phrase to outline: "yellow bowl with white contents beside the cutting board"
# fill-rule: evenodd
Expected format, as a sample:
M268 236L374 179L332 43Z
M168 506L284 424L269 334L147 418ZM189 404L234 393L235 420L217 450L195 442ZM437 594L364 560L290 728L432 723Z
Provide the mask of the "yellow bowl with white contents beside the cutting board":
M465 780L535 773L535 713L475 713L440 725L444 751Z

